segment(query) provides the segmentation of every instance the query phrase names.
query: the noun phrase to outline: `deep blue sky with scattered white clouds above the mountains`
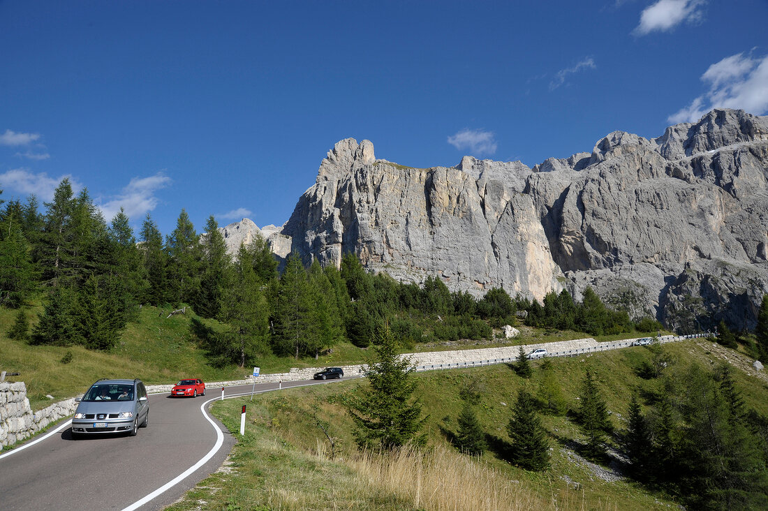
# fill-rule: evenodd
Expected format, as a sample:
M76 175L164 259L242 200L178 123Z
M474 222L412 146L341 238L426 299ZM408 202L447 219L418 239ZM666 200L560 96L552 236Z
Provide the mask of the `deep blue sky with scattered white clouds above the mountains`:
M528 166L768 113L768 2L0 0L0 198L68 177L164 234L290 217L326 152Z

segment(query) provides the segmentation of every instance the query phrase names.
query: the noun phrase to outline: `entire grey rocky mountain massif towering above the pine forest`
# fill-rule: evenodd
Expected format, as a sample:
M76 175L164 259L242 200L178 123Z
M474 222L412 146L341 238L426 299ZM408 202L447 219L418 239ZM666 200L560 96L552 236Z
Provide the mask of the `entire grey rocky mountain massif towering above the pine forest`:
M768 117L715 110L650 140L614 131L532 169L469 156L409 168L350 138L269 239L283 257L339 264L349 251L473 294L591 286L680 330L753 327L768 294Z

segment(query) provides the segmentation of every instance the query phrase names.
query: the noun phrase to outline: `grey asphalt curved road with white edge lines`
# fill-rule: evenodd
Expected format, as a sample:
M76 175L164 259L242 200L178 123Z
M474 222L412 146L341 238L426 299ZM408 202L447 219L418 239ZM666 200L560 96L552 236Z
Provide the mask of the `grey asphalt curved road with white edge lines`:
M307 384L312 383L283 382L283 388ZM277 387L261 383L255 390ZM224 395L250 394L252 388L225 387ZM163 509L214 473L232 449L234 437L218 420L207 419L204 403L217 399L221 387L208 387L196 399L152 394L149 425L137 436L72 440L67 426L0 454L0 509ZM200 463L207 455L210 459ZM197 463L197 470L181 476ZM180 480L167 484L174 479Z

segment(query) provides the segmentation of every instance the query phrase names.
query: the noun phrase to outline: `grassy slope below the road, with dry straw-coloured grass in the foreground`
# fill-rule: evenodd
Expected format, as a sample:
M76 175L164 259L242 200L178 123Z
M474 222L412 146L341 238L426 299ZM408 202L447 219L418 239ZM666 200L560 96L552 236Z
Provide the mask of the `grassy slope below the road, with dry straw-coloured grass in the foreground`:
M748 368L751 360L707 340L666 345L680 363L697 361L713 367L723 359ZM627 403L637 389L653 390L655 380L637 377L636 368L650 361L650 350L633 347L587 357L551 360L558 387L575 406L573 390L584 370L598 381L617 430L626 426ZM359 453L352 423L336 397L364 380L266 393L215 403L214 413L233 432L240 428L240 407L247 405L247 433L218 473L171 509L668 509L674 498L651 493L624 479L621 463L598 466L578 456L583 439L566 416L542 416L550 435L551 469L520 470L505 461L505 426L511 404L522 387L538 393L540 363L524 380L510 367L419 373L419 395L429 414L430 449L406 452L395 459ZM747 406L768 413L766 376L734 372ZM462 409L462 389L473 387L482 398L475 407L492 441L481 458L462 455L449 442ZM318 426L333 437L331 445ZM612 441L613 442L613 441Z

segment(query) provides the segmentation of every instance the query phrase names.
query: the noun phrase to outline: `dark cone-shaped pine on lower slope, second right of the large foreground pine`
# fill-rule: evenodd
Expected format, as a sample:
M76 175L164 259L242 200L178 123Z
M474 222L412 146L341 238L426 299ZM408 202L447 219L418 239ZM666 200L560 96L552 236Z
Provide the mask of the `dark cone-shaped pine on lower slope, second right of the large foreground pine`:
M534 398L526 390L518 392L507 425L512 440L512 461L525 470L545 470L549 466L549 443Z

